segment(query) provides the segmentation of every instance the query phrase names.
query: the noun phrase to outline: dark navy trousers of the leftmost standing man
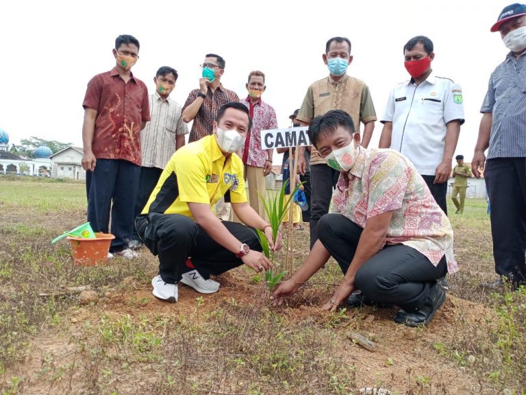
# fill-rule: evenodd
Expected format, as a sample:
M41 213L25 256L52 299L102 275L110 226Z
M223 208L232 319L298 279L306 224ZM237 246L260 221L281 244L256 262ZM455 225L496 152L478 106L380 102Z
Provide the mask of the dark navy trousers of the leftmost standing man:
M140 166L121 159L97 159L95 170L86 171L88 221L94 232L108 233L111 211L112 253L128 248L134 233L139 173Z

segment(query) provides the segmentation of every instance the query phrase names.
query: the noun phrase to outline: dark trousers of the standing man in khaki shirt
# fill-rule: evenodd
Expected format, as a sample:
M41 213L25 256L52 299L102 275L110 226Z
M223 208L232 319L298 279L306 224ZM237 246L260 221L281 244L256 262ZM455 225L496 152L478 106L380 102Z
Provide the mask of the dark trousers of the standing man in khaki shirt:
M340 177L340 171L334 170L329 165L310 166L310 184L312 185L310 195L310 202L312 203L310 209L310 248L318 240L316 226L320 218L329 212L332 191L336 187L338 177Z

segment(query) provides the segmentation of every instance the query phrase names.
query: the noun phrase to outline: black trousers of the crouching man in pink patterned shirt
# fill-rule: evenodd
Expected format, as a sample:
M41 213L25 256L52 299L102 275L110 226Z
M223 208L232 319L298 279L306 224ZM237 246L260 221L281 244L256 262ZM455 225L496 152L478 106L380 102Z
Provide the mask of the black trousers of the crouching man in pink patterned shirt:
M318 222L318 237L347 273L362 228L340 214L324 215ZM437 266L414 248L395 244L385 246L360 267L355 289L375 302L394 303L405 311L421 309L431 285L447 273L445 256Z

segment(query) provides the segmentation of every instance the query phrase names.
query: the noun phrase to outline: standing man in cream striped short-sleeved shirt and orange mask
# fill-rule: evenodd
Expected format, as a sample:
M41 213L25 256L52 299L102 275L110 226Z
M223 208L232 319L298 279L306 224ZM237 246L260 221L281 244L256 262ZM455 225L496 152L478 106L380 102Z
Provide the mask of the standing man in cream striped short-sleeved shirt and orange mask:
M134 217L145 207L166 163L184 145L184 135L188 134L186 123L181 118L181 106L169 97L177 77L175 69L163 66L153 78L155 93L149 95L151 120L140 132L140 181ZM138 250L141 246L142 241L134 230L129 248Z

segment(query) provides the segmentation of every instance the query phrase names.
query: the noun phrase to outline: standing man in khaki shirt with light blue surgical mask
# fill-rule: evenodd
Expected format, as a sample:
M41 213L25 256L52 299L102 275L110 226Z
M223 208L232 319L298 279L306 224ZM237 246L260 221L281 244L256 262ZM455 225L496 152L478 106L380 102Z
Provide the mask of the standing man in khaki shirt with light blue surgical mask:
M344 110L353 119L357 132L360 129L360 121L364 124L361 145L367 147L375 128L376 112L368 86L346 73L347 66L353 61L351 41L345 37L330 38L325 45L322 58L329 68L329 75L309 86L297 115L297 121L301 125L309 125L314 117L323 115L329 110ZM305 147L299 149L297 168L303 175L306 169L303 156ZM314 147L310 156L310 166L312 185L310 247L312 248L318 239L316 225L322 215L329 211L332 191L336 187L340 171L329 167Z

